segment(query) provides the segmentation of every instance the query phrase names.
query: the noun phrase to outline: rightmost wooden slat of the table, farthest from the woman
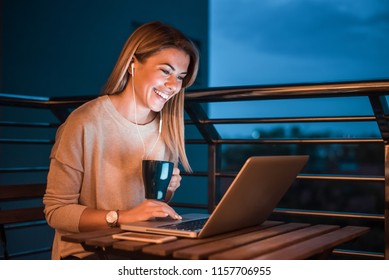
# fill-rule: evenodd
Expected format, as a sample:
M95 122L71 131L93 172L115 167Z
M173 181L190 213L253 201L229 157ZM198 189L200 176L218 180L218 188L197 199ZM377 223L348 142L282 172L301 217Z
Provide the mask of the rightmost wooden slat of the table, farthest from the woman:
M339 244L353 240L369 231L368 227L346 226L330 233L288 246L286 248L258 256L254 259L296 260L306 259L330 250Z

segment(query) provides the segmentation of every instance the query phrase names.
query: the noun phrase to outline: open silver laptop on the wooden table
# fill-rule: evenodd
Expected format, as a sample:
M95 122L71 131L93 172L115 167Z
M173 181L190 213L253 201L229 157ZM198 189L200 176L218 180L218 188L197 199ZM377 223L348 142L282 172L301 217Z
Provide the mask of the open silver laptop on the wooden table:
M120 227L126 231L203 238L259 225L270 216L308 158L250 157L211 215L185 214L182 220L158 219Z

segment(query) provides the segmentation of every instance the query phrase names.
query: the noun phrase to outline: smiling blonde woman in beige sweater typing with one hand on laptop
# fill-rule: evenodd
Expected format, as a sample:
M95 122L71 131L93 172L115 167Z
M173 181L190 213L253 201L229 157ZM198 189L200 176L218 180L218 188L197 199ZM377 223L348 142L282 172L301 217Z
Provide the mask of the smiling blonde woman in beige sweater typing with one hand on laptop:
M145 200L142 159L176 163L169 189L180 185L184 148L184 89L195 80L199 55L177 29L161 22L128 38L103 95L73 111L57 131L43 198L55 228L53 259L88 256L64 234L180 216L166 203Z

